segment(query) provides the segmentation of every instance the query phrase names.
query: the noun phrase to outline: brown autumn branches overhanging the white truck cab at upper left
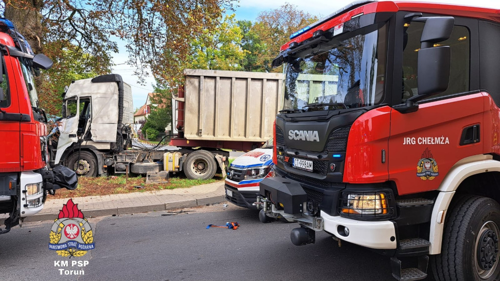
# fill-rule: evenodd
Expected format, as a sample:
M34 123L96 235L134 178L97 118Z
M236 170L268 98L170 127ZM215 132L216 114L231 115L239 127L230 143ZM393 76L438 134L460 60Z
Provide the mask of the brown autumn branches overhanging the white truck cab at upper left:
M175 85L190 58L190 42L219 23L231 0L0 0L0 13L11 19L35 53L59 60L64 48L89 54L88 72L101 74L117 52L116 39L126 42L128 63L139 80L147 69L161 83ZM62 75L74 61L60 53ZM88 59L84 59L88 61ZM87 67L84 66L84 67ZM52 82L56 75L45 78ZM39 96L57 99L50 86L39 87ZM57 93L58 94L58 93ZM55 108L54 108L55 110Z

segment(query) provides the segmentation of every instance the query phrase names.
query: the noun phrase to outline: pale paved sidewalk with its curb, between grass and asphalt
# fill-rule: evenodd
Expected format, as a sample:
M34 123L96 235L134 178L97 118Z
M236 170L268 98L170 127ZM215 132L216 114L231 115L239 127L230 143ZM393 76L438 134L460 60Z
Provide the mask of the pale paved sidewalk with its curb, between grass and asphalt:
M43 209L24 221L53 220L69 198L47 197ZM226 201L224 182L214 182L189 188L163 189L130 192L104 196L74 197L73 202L85 217L159 211L174 208L194 207Z

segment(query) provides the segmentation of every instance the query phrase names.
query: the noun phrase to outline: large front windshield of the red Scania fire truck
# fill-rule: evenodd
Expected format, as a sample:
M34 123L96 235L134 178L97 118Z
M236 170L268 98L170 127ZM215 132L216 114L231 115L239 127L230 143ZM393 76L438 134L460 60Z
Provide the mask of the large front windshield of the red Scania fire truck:
M283 108L327 110L370 106L384 95L387 25L327 51L311 49L284 65ZM311 55L312 54L312 55Z

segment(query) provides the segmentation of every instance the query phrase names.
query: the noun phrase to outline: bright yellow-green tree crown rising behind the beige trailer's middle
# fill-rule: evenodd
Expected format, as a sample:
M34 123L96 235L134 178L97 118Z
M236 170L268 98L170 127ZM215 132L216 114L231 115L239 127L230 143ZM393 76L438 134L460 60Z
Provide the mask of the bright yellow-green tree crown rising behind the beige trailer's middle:
M234 14L226 15L215 28L205 28L201 36L191 41L192 60L188 68L242 70L240 61L247 52L240 46L242 37Z

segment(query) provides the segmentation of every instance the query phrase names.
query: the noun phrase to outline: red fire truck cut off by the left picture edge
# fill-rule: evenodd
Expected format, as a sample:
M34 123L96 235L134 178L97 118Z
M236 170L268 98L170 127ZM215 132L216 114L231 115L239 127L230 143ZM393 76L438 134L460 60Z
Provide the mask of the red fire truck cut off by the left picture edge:
M52 66L33 54L11 21L0 18L0 213L8 213L6 233L43 208L57 188L76 187L74 171L47 168L47 118L38 106L34 75Z

